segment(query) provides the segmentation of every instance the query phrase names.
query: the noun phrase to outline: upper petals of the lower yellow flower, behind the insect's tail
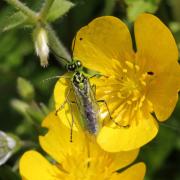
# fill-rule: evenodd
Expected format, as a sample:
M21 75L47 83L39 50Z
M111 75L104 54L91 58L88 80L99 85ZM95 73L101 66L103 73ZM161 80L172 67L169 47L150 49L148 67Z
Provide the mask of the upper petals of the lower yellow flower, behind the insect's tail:
M69 171L72 170L72 167L68 164L65 165L64 162L70 161L67 160L67 157L74 162L73 160L76 158L75 154L80 154L82 161L84 161L88 159L87 152L89 152L90 157L94 159L95 162L97 157L101 156L101 163L104 162L105 164L109 162L105 161L106 158L108 158L111 160L111 163L108 163L108 168L111 171L116 171L132 163L139 153L139 150L107 153L97 145L94 137L84 136L84 133L81 131L73 131L73 142L70 142L70 129L65 127L54 113L48 115L43 121L43 126L49 128L49 131L45 136L40 137L41 147L50 154L54 160L63 164L63 167ZM101 165L101 163L99 162L98 165Z

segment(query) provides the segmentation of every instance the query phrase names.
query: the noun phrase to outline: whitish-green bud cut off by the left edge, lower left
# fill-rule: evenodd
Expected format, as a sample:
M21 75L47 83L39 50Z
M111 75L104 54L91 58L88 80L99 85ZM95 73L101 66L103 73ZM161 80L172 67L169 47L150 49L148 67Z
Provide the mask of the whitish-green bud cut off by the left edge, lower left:
M0 131L0 166L6 163L15 148L16 141L11 136Z

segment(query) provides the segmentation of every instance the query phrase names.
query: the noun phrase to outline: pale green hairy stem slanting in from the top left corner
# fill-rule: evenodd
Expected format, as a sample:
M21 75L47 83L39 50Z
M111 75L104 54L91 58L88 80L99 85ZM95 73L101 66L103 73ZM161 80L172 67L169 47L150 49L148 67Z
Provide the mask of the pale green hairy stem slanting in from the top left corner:
M20 2L19 0L5 0L7 3L11 4L16 9L22 11L25 15L27 15L31 20L36 22L38 20L37 14L28 8L25 4Z

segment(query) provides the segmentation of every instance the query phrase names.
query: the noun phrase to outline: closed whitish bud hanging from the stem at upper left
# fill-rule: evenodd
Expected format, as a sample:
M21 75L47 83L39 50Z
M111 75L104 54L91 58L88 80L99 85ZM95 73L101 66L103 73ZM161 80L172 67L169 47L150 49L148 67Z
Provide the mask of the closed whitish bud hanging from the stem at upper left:
M34 42L37 55L40 57L41 66L48 65L49 47L46 30L37 27L34 31Z

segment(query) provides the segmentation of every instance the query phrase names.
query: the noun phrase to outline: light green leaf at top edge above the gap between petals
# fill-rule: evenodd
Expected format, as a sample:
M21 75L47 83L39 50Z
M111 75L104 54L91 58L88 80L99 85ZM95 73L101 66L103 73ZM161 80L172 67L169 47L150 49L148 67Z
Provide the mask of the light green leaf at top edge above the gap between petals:
M134 21L143 12L155 13L160 0L125 0L125 3L128 5L128 19Z

